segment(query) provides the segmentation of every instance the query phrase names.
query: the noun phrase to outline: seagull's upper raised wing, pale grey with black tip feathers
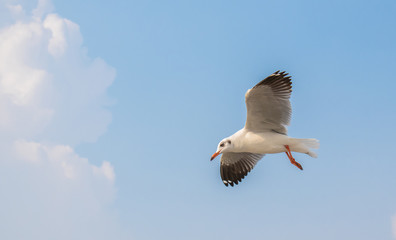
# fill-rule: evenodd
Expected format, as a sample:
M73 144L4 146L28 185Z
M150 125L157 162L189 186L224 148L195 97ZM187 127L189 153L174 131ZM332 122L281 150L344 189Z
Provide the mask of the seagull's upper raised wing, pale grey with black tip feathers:
M291 117L290 76L275 72L245 94L247 119L245 128L253 132L276 131L286 134Z

